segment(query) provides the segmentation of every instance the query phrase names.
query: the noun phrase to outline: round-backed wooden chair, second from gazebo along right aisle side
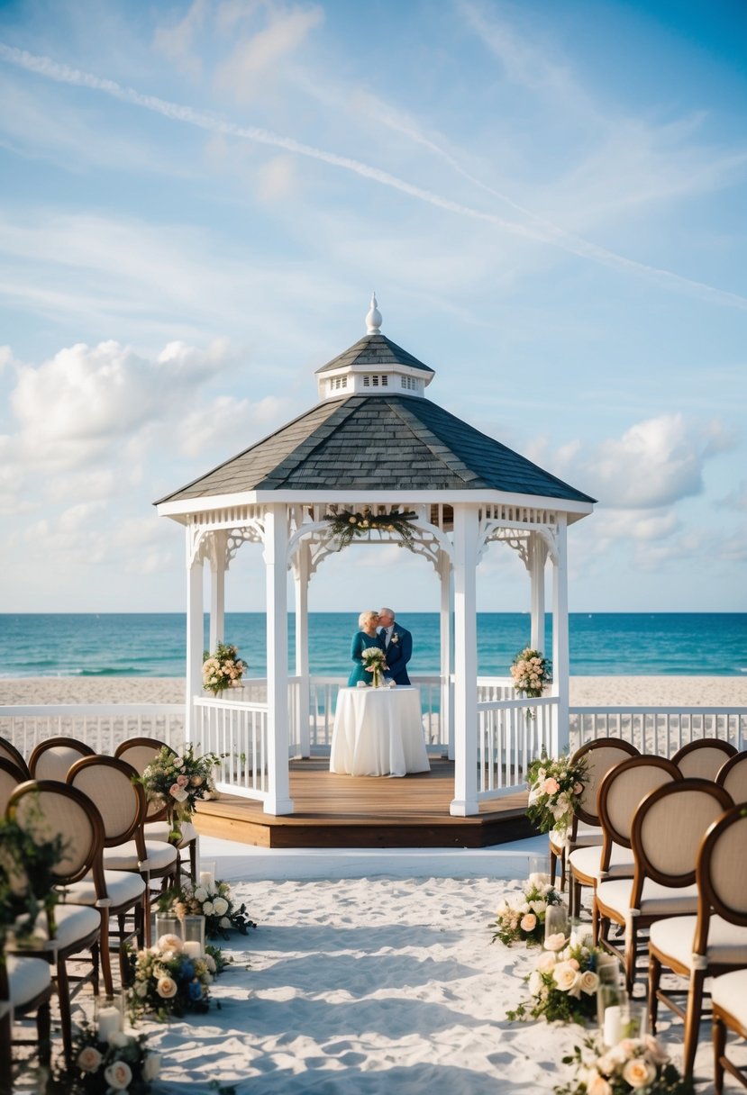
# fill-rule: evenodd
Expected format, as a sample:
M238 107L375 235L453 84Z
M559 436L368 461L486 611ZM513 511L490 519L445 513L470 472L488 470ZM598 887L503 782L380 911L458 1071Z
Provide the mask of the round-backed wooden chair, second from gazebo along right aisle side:
M681 780L681 775L671 761L646 756L620 761L602 777L597 792L597 814L604 833L601 849L578 848L568 856L571 908L576 914L581 909L582 887L595 890L601 879L633 877L635 862L630 842L633 814L651 791L673 780ZM596 920L594 937L597 937Z

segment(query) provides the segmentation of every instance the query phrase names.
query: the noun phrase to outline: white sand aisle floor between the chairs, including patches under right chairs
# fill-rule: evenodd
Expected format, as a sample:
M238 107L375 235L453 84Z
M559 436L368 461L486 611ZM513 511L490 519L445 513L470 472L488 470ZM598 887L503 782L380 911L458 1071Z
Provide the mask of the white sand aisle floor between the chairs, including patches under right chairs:
M360 878L237 885L260 924L225 945L237 965L206 1015L147 1023L163 1090L239 1095L487 1095L551 1092L579 1028L509 1023L532 955L490 943L518 883ZM249 968L246 963L249 961ZM679 1063L681 1025L663 1013ZM696 1062L712 1090L709 1025ZM747 1049L734 1057L747 1063Z

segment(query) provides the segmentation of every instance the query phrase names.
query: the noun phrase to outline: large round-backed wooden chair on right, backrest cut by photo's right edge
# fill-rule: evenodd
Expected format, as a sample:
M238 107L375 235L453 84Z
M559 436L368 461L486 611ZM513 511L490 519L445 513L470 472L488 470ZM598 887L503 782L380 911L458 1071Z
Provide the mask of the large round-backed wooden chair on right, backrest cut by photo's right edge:
M722 788L723 789L723 788ZM710 827L696 867L698 913L659 920L648 940L648 1011L656 1033L659 1002L685 1021L685 1074L692 1075L709 977L747 968L747 811L732 806ZM662 970L687 978L687 1005L660 988Z

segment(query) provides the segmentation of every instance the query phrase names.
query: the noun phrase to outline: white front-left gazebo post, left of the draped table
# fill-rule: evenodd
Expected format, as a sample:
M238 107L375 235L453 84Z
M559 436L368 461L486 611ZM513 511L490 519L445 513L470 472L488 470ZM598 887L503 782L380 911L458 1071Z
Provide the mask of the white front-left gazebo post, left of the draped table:
M288 516L273 503L265 509L264 558L267 600L267 797L265 814L292 814L288 774Z

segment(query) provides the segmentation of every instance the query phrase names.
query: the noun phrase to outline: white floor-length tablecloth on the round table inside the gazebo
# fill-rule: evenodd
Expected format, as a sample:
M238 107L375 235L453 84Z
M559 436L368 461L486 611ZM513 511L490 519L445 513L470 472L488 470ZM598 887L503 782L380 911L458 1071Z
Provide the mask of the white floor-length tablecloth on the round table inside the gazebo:
M429 772L416 688L341 688L332 731L331 772L405 775Z

